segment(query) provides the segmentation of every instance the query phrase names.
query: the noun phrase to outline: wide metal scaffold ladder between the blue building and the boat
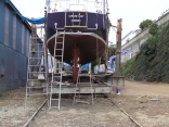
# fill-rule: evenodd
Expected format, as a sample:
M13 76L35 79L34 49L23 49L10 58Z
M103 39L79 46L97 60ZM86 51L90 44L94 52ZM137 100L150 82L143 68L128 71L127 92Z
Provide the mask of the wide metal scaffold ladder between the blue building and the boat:
M25 107L27 105L28 97L48 96L47 73L48 67L46 43L44 41L40 41L40 38L37 35L32 35L28 52ZM43 92L44 88L47 89L46 92Z

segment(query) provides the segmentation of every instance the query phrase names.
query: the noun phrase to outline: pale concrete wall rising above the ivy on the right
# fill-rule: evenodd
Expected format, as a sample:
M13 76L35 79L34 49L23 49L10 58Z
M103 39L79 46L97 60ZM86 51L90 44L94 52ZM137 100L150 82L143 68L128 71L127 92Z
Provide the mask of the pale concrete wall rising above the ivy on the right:
M166 22L169 22L169 12L158 18L155 23L158 25L162 25ZM148 37L151 37L151 35L148 34L148 28L146 28L142 33L133 37L129 42L125 43L121 47L121 50L132 50L133 53L121 55L121 62L126 62L133 58L140 51L141 45L145 42Z

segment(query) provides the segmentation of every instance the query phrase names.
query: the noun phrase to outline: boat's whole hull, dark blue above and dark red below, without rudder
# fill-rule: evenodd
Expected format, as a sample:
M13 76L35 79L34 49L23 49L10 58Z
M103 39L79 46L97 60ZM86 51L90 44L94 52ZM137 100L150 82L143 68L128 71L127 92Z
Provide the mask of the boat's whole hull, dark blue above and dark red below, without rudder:
M48 13L46 22L48 49L53 55L55 42L55 36L53 35L56 34L55 27L57 27L58 33L65 30L66 35L64 42L64 62L70 63L73 60L73 50L75 45L79 48L80 64L92 62L105 52L105 14L89 12ZM82 34L81 36L79 31ZM73 33L73 35L70 33ZM61 54L61 52L58 51L56 54ZM56 59L60 60L60 58Z

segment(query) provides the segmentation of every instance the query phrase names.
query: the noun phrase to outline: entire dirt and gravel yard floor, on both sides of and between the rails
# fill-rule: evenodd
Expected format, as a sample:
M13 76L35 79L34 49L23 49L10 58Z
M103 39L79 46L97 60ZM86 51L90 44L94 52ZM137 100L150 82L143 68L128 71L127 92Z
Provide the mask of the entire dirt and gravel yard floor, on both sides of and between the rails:
M114 90L109 98L98 96L93 104L73 105L73 97L66 97L61 111L43 106L29 127L136 127L119 109L142 127L169 127L169 84L125 84L120 94ZM1 94L0 127L22 127L44 100L30 97L25 107L24 88Z

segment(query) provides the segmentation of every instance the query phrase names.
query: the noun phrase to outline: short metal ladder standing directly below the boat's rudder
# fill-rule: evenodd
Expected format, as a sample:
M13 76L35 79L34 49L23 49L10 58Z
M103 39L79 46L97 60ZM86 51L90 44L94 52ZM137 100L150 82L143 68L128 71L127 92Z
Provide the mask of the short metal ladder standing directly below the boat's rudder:
M80 88L81 88L80 82L79 82L80 76L89 76L90 77L89 85L90 85L90 90L91 90L91 104L93 104L93 86L92 86L92 81L91 81L91 79L92 79L92 77L91 77L91 64L89 66L89 72L90 72L90 74L82 75L82 74L80 74L80 68L79 68L78 76L77 76L77 82L76 82L76 87L75 87L73 105L75 104L75 102L77 102L77 100L76 100L77 97L79 97L79 99L80 99ZM77 96L77 93L79 96ZM82 101L79 101L79 102L82 102Z

